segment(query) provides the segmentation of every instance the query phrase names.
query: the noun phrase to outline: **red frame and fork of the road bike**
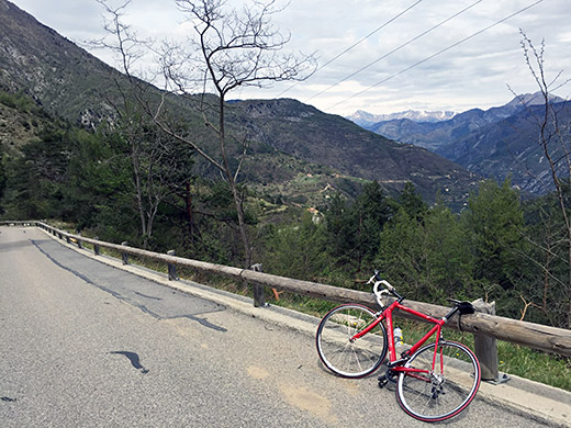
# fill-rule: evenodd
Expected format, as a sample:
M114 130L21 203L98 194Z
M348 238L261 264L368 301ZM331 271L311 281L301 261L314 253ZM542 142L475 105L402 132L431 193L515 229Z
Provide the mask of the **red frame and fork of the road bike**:
M430 328L430 330L422 338L419 339L416 343L414 343L411 349L408 349L407 351L403 352L403 358L402 359L396 359L396 347L394 346L394 333L393 333L393 318L392 318L392 313L395 311L395 309L399 309L399 311L402 311L402 312L406 312L408 314L412 314L418 318L422 318L428 323L433 323L434 324L434 327ZM361 337L363 337L365 335L367 335L371 329L373 329L379 323L381 323L383 319L385 319L387 322L387 334L389 336L389 368L390 370L392 371L395 371L395 372L426 372L426 371L423 371L423 370L417 370L417 369L408 369L408 368L404 368L402 365L400 365L400 363L403 363L407 360L407 356L412 356L414 352L416 352L416 350L418 350L435 333L436 333L436 340L435 340L435 352L434 352L434 358L433 358L433 364L432 364L432 369L434 371L435 369L435 365L436 365L436 356L437 356L437 347L438 347L438 342L440 341L440 337L441 337L441 330L443 330L443 326L446 324L447 322L447 317L444 317L444 318L434 318L429 315L425 315L418 311L415 311L415 309L412 309L410 307L406 307L404 305L402 305L399 300L394 301L391 305L389 305L387 308L384 308L380 314L379 316L377 317L377 319L374 319L369 326L367 326L366 328L363 328L361 331L357 333L355 336L351 337L351 341L355 341Z

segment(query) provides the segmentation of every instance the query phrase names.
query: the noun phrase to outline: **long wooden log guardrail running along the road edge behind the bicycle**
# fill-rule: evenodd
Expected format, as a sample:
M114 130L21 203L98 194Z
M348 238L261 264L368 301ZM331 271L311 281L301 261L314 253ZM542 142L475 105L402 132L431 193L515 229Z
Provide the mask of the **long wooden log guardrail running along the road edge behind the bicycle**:
M80 235L69 234L57 229L42 222L1 222L12 225L27 225L41 227L51 234L74 243L78 247L83 244L93 246L94 254L99 255L101 248L108 248L119 251L122 255L123 263L128 263L128 256L145 257L155 261L164 262L169 267L169 279L176 280L175 267L192 268L202 272L221 274L238 281L246 281L255 286L269 286L272 289L284 290L292 293L307 295L338 303L360 303L370 307L377 306L377 302L372 293L343 289L333 285L321 284L310 281L294 280L291 278L278 277L269 273L262 273L255 270L228 267L223 264L209 263L199 260L186 259L169 254L158 254L138 248L130 247L126 243L122 245L110 244L98 239L86 238ZM407 306L423 312L433 317L443 317L449 312L448 307L437 306L428 303L406 301ZM256 304L258 306L259 304ZM406 317L406 314L396 314ZM490 339L500 339L525 347L539 349L548 352L558 353L563 357L571 357L571 330L549 327L540 324L527 323L505 318L501 316L490 315L485 313L475 313L473 315L464 315L457 322L447 324L447 327L457 328L462 331L472 333L475 337L486 337ZM495 341L493 341L495 347ZM489 368L493 376L497 376L497 363L494 362L493 352L490 349L478 350L477 354L483 368ZM495 354L496 359L496 354ZM488 369L486 369L488 370ZM485 378L483 378L485 379ZM496 379L497 380L497 379Z

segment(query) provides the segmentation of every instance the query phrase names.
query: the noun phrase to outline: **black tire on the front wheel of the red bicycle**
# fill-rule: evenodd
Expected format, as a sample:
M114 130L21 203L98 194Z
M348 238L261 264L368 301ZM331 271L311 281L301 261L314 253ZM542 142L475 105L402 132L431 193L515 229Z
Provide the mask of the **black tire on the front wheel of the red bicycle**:
M380 343L382 350L378 353L378 356L379 356L378 359L376 359L376 361L368 369L361 370L358 372L349 372L347 370L343 370L343 369L336 367L331 361L331 357L326 356L323 350L322 336L323 336L325 326L329 325L328 322L332 318L332 316L334 316L335 314L337 314L342 311L346 311L348 308L363 311L363 312L368 313L371 317L376 317L374 312L367 306L355 304L355 303L346 303L346 304L339 305L339 306L333 308L332 311L329 311L321 320L320 326L317 327L317 331L315 334L315 346L317 348L317 354L320 356L321 361L329 371L332 371L333 373L335 373L342 378L358 379L358 378L363 378L363 376L367 376L367 375L373 373L382 364L382 362L384 361L384 358L387 357L387 352L388 352L388 341L387 341L388 335L387 335L387 328L384 327L384 325L382 323L379 323L378 326L379 326L379 329L380 329L381 336L382 336L382 343ZM355 330L355 333L356 331L357 330ZM355 334L355 333L352 333L352 334ZM366 335L366 336L369 336L369 335ZM349 345L349 343L347 343L347 345Z

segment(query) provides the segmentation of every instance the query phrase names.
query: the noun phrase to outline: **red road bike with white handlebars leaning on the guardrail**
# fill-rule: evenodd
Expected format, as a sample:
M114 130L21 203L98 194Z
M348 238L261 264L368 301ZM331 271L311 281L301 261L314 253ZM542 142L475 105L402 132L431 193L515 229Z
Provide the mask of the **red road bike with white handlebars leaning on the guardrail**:
M379 385L395 383L396 399L408 415L424 421L440 421L466 409L480 386L480 363L464 345L445 340L443 326L457 313L473 314L472 304L449 300L455 306L437 319L404 306L404 297L378 272L368 283L374 284L381 311L376 313L367 306L348 303L332 309L320 323L315 341L325 367L343 378L363 378L379 369L389 352L387 372L379 378ZM384 290L379 290L381 286ZM395 297L389 306L382 302L384 294ZM395 309L434 324L400 358L394 345ZM434 343L425 345L433 335Z

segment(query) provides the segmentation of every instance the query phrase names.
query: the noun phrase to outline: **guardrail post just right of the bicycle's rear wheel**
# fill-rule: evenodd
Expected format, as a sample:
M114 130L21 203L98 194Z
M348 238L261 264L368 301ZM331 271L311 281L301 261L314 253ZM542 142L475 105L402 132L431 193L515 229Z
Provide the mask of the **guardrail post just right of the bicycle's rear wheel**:
M472 302L477 312L495 315L495 302L486 303L482 299ZM480 361L482 381L503 383L510 380L506 374L501 374L497 367L497 342L495 338L474 335L474 352Z

